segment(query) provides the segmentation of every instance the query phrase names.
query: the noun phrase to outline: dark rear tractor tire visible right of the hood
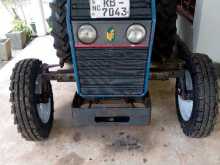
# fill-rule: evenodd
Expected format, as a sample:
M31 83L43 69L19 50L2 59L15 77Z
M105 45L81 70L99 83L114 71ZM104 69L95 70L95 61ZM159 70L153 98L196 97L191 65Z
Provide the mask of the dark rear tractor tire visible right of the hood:
M177 0L157 0L157 24L153 60L164 61L173 53L177 32Z

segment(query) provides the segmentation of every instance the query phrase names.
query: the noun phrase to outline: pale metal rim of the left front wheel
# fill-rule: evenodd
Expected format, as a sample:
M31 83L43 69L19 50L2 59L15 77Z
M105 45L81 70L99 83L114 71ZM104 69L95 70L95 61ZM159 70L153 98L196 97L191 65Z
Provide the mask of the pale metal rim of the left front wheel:
M41 79L37 79L35 82L35 94L37 94L38 96L40 96L43 91L42 91L42 82ZM52 104L52 100L51 97L48 98L48 101L46 103L37 103L36 107L37 107L37 114L41 120L42 123L47 124L50 120L50 116L51 116L51 104Z

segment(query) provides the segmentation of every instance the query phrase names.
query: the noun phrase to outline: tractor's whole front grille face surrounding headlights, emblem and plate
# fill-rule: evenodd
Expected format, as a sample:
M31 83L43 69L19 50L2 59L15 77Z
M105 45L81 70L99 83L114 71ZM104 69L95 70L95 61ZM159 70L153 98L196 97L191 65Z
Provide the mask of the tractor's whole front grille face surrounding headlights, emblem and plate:
M130 43L127 43L127 40L124 42L124 38L120 38L124 37L122 33L126 30L125 27L133 22L140 22L146 26L146 29L149 29L149 32L151 30L151 1L130 0L129 18L91 19L89 0L72 0L72 35L75 37L75 45L79 43L76 34L77 28L83 23L89 23L99 29L100 33L100 38L97 39L94 45L109 44L105 42L105 33L114 24L115 30L118 32L117 44L128 44L129 46ZM123 23L117 21L123 21ZM109 24L109 22L112 24ZM113 47L108 48L76 46L74 57L76 57L77 89L80 95L84 97L132 97L143 95L145 93L145 82L147 81L146 66L149 42L150 33L146 37L146 44L144 45L146 47L143 48L116 48L113 44Z

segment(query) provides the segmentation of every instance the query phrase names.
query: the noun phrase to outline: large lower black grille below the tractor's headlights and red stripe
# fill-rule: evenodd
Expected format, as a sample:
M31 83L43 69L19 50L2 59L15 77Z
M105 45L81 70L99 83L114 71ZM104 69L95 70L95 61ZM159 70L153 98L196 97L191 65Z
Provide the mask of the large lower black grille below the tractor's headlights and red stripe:
M76 49L83 95L141 95L147 49Z

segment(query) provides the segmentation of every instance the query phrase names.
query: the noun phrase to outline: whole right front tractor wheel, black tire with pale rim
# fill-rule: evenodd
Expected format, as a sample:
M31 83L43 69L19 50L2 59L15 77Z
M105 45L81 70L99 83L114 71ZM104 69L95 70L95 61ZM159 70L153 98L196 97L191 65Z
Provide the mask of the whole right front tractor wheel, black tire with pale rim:
M186 60L184 78L176 83L177 116L183 132L193 138L207 137L218 114L218 85L214 65L208 56L195 54ZM184 98L182 92L189 93Z

